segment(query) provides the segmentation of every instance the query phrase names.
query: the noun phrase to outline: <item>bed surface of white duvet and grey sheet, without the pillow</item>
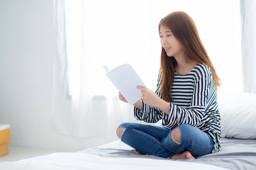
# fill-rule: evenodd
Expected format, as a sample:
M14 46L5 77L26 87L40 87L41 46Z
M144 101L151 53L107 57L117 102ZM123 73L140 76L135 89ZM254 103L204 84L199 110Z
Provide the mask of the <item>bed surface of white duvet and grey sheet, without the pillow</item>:
M222 138L219 152L195 160L136 155L120 140L79 152L0 163L0 170L256 170L256 140Z

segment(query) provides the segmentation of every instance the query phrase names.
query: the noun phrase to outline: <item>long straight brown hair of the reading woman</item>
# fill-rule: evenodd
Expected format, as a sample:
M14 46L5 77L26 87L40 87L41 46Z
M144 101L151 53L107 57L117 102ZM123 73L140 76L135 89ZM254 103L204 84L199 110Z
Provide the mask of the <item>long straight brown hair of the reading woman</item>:
M166 15L160 22L160 26L164 25L171 29L173 36L184 46L186 60L193 60L198 63L206 64L211 68L213 77L216 83L216 88L220 86L220 78L216 73L207 51L205 50L197 28L193 19L183 11L174 11ZM164 48L162 47L160 56L160 70L159 73L162 76L162 83L160 91L162 91L162 97L167 102L173 102L170 95L171 88L173 85L173 79L175 76L175 66L177 64L174 57L168 57Z

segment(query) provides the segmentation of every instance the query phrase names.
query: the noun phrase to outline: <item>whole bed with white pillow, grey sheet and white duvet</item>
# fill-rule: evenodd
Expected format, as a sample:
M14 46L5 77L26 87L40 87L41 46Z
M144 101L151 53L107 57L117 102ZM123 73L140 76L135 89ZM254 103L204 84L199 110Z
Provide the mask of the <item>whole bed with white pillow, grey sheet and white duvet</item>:
M0 163L0 170L256 170L256 94L219 95L221 149L195 160L136 155L120 140L81 150Z

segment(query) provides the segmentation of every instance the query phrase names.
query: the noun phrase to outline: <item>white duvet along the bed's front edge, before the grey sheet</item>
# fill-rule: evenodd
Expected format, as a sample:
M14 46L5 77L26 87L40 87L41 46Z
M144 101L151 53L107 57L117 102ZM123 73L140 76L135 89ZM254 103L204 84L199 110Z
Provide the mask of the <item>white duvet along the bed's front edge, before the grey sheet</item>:
M54 153L1 163L1 170L226 170L201 163L163 159L101 157L85 153Z

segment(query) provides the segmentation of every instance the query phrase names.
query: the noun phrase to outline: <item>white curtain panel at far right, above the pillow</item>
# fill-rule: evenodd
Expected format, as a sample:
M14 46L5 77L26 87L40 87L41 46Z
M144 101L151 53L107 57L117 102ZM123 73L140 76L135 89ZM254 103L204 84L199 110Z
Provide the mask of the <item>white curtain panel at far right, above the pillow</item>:
M243 90L256 93L256 1L240 0L242 18Z

